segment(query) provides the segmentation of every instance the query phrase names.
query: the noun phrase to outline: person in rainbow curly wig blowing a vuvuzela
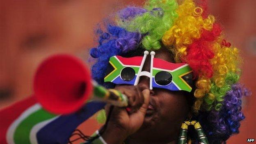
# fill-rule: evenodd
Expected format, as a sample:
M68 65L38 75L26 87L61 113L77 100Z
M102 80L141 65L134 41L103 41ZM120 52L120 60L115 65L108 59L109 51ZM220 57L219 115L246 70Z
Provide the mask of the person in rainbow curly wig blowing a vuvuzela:
M240 121L245 119L242 96L249 95L238 83L241 58L238 48L224 39L215 17L208 14L207 2L147 0L144 7L118 11L115 22L105 26L96 32L99 45L90 50L96 59L92 77L125 94L130 110L107 105L104 130L97 132L99 138L92 143L222 144L239 133ZM158 62L188 64L192 81L186 82L191 90L152 87L152 55L140 66L144 74L134 74L139 77L137 84L123 78L106 80L111 57L133 62L132 57L142 57L146 50L162 60ZM163 82L169 80L163 77L160 75Z

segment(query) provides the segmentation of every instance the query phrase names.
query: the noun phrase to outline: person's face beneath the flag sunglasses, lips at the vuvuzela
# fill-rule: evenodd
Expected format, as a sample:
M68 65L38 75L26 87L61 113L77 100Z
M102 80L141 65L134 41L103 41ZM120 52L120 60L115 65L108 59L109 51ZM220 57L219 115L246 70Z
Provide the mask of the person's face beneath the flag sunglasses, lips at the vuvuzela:
M155 57L174 63L174 58L166 48L155 51ZM150 72L150 56L146 58L142 71ZM122 85L117 85L122 87ZM142 76L139 87L149 89L149 78ZM188 95L184 91L170 91L153 88L150 90L150 103L142 127L130 138L137 139L176 139L179 135L181 123L190 112ZM153 139L151 139L152 142Z

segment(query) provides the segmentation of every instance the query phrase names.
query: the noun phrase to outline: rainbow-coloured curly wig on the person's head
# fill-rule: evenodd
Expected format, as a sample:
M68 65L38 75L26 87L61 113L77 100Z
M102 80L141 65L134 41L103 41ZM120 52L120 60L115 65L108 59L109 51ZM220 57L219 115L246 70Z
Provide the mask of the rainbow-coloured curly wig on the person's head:
M249 95L238 83L239 50L224 39L221 25L207 13L206 2L147 0L144 7L120 10L114 22L98 29L97 34L98 46L90 55L97 58L91 71L99 84L113 87L104 83L113 55L139 48L157 50L164 45L177 63L187 63L193 69L193 110L209 142L222 143L239 133L240 121L245 119L241 99Z

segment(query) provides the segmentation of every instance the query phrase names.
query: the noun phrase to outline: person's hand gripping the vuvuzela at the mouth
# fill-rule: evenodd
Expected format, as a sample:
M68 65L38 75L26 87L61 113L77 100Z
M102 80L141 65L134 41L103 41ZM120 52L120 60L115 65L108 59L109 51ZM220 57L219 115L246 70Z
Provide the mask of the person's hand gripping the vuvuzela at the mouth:
M138 86L120 85L115 89L125 94L129 99L130 112L125 107L113 107L102 137L109 144L119 144L129 135L135 133L142 126L147 107L149 105L149 89L140 89ZM110 105L105 107L106 114Z

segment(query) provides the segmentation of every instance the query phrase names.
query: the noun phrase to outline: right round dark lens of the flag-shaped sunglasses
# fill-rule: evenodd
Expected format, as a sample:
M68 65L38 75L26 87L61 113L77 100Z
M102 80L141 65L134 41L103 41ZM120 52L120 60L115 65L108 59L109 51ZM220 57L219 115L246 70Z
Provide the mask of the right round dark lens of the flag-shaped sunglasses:
M167 71L160 71L155 75L155 83L158 85L169 85L171 83L171 73Z

